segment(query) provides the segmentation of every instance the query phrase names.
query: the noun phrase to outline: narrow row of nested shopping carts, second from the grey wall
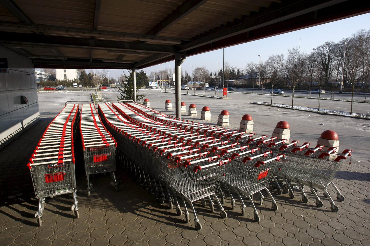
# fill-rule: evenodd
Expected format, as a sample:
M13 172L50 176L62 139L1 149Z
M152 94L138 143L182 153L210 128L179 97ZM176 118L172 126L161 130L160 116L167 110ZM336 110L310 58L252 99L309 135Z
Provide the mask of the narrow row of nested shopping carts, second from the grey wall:
M117 191L116 146L112 135L102 124L94 104L84 103L80 112L80 132L87 175L87 195L90 197L93 185L90 175L110 172L111 184Z

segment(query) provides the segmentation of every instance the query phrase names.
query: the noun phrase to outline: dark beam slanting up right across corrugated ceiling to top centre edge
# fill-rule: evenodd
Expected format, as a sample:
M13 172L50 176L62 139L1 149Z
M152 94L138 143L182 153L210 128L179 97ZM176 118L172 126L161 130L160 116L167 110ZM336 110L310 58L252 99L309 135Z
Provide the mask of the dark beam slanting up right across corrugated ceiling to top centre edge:
M155 27L148 31L148 35L158 35L166 28L170 27L177 21L181 20L184 16L191 13L193 10L201 6L207 0L185 0L179 7L177 7L172 13L166 16L161 22Z

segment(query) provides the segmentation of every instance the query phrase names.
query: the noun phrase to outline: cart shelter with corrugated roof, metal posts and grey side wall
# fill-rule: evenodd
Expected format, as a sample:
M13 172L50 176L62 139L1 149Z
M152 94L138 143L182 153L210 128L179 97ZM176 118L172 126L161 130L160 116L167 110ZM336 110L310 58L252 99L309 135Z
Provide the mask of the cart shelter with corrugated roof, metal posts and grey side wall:
M0 149L39 118L35 68L135 71L175 60L181 118L186 56L369 11L360 0L0 0Z

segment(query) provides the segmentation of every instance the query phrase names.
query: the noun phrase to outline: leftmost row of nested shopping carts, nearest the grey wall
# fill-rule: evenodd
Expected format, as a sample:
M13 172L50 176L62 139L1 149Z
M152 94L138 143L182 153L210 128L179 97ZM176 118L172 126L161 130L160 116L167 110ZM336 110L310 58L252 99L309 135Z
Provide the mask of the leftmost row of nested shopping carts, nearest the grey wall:
M28 163L38 199L35 217L39 226L46 197L72 193L71 211L79 216L73 151L77 116L78 104L66 105L46 128Z

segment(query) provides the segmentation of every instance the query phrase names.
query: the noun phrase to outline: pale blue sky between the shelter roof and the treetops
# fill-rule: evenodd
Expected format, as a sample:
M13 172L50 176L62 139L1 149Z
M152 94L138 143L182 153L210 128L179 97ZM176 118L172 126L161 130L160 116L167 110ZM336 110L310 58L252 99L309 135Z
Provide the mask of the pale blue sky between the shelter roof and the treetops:
M261 56L261 62L263 62L270 55L286 55L288 49L295 47L300 47L301 51L309 53L313 48L324 44L326 41L338 42L343 38L349 38L352 34L361 29L370 29L370 13L290 33L280 34L245 44L234 45L232 47L225 48L224 61L228 61L231 66L237 66L242 69L246 66L246 63L250 61L259 63L258 55ZM218 71L218 61L220 62L221 68L223 49L187 57L185 62L181 65L181 70L183 74L185 71L188 72L188 74L191 74L192 66L194 66L194 68L205 66L212 72ZM168 65L173 69L175 62L170 61L164 63L163 69L168 69ZM149 76L154 69L155 71L159 71L159 65L150 66L142 70L144 70ZM109 73L111 77L114 78L115 76L117 77L122 74L122 70L110 69Z

